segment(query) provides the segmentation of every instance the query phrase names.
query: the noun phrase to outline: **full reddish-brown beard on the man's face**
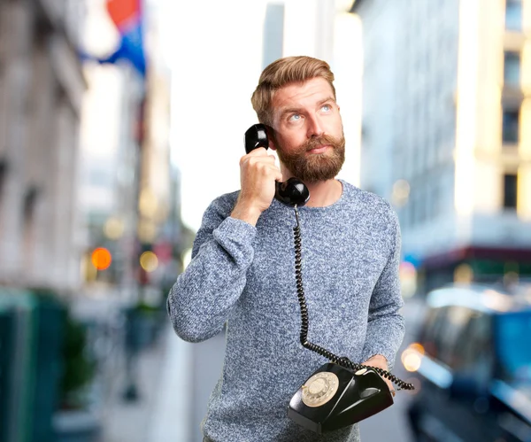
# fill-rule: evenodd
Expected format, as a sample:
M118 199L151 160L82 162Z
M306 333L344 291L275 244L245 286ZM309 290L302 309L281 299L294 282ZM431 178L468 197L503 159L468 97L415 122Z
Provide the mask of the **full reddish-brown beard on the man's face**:
M285 151L275 141L277 154L284 167L293 176L303 182L327 181L335 178L345 162L345 137L316 136L301 144L293 151ZM320 146L328 145L330 149L323 153L306 154Z

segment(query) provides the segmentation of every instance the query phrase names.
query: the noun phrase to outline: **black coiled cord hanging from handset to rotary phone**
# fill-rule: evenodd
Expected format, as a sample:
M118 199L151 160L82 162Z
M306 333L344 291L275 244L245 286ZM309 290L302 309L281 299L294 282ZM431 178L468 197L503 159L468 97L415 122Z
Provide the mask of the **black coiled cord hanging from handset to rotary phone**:
M339 356L336 356L334 353L329 352L327 349L319 345L315 345L312 342L308 341L308 327L309 327L308 307L306 306L306 299L304 297L301 228L300 228L298 210L296 208L296 205L295 205L295 217L296 217L296 227L293 228L293 237L294 237L294 243L295 243L296 293L297 293L297 298L299 301L299 306L301 308L301 320L302 320L301 334L300 334L301 344L304 346L304 348L312 350L312 352L319 353L321 356L324 356L328 360L336 364L339 364L344 368L350 368L351 370L354 370L354 371L358 371L362 368L373 369L380 376L389 379L392 383L400 387L396 389L396 391L414 390L415 387L413 386L413 384L408 384L404 382L402 379L399 379L395 375L389 373L389 371L386 371L378 367L370 367L370 366L363 365L363 364L357 364L355 362L350 361L349 358L344 357L344 356L340 358Z

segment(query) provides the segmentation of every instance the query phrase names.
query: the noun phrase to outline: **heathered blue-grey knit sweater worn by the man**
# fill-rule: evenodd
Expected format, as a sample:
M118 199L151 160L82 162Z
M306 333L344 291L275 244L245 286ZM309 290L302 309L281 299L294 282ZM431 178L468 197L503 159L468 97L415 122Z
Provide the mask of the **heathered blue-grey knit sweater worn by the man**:
M299 209L310 342L361 362L395 360L404 337L400 228L389 203L342 182L327 207ZM199 342L227 322L227 352L203 422L214 442L358 441L358 425L317 435L289 400L327 362L299 342L292 208L273 200L256 227L229 215L238 192L204 213L189 267L168 298L177 335Z

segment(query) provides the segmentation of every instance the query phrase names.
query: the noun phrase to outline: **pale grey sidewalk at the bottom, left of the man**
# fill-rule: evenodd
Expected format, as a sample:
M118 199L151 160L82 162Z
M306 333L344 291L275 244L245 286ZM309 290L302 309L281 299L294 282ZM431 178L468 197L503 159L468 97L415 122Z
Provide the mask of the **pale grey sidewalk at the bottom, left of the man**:
M102 442L188 442L190 361L189 344L176 337L168 323L156 345L138 354L138 399L124 399L125 370L117 376L104 410Z

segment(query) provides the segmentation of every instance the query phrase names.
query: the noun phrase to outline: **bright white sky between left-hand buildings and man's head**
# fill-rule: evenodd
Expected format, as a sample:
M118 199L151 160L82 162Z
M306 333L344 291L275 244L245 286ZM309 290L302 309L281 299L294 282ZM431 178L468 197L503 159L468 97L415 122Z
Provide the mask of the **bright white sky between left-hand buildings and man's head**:
M196 230L212 199L240 188L243 133L258 122L250 96L266 2L172 1L161 10L173 69L172 159L181 171L182 220Z

